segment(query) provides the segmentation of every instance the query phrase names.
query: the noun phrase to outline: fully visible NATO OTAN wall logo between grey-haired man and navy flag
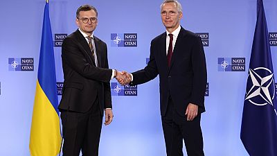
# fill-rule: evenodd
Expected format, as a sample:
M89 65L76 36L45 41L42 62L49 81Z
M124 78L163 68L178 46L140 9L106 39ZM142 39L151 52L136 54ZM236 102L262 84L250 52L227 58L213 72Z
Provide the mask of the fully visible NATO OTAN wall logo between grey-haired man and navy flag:
M218 71L245 71L245 58L218 58Z

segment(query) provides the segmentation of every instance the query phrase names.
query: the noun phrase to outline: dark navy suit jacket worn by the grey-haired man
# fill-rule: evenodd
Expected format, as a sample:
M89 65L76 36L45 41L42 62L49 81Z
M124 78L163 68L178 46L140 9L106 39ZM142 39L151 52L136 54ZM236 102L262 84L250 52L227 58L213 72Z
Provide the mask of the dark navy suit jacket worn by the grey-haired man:
M205 112L206 60L202 40L195 33L181 28L170 67L166 58L166 32L155 37L151 42L148 65L132 74L130 85L146 83L159 74L162 116L166 114L169 96L181 116L185 116L188 103L198 105L199 113Z

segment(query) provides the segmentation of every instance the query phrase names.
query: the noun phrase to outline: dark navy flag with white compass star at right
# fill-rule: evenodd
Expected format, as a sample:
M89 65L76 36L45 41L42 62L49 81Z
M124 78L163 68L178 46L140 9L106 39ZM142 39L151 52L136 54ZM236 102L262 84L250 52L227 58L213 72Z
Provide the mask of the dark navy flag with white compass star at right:
M250 156L277 156L277 98L262 0L257 8L240 138Z

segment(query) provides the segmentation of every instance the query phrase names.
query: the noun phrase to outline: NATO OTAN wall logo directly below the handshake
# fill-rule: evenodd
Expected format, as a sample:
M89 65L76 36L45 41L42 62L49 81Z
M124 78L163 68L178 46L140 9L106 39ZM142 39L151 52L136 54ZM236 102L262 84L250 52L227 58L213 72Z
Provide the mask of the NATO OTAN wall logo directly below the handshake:
M120 85L119 83L111 83L111 96L137 96L138 87L130 85Z

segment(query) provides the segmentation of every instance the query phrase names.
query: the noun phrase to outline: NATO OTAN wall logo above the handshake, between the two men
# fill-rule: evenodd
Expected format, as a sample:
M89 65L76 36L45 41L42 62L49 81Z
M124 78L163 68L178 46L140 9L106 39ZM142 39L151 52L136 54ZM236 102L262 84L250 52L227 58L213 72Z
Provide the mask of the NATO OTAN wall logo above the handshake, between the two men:
M137 46L137 33L111 33L111 46L134 47Z

